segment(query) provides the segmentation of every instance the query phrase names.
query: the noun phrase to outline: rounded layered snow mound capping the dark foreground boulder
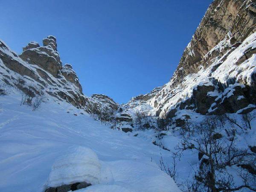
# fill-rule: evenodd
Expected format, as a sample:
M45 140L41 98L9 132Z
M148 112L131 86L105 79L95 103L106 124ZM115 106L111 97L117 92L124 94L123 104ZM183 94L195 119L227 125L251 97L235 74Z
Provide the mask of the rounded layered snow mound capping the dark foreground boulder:
M72 146L67 154L59 157L49 175L49 187L86 181L96 184L100 181L101 164L97 154L90 148Z

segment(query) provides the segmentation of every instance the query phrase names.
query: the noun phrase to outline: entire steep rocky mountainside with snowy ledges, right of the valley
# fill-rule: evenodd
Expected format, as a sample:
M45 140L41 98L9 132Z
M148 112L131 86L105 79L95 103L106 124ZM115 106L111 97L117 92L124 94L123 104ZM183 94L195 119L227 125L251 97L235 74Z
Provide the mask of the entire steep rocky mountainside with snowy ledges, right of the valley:
M125 107L179 122L192 113L247 113L256 104L255 53L256 1L215 0L172 79Z

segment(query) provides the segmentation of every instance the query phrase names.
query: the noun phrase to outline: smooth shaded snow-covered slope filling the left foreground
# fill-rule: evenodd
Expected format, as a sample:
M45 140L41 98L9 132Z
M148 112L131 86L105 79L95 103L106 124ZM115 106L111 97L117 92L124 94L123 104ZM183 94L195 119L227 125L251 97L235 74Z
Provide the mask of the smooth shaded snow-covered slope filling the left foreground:
M151 140L112 130L52 98L32 111L20 106L17 90L10 92L0 97L1 192L42 192L83 180L93 184L84 192L180 191L158 167L160 149ZM170 159L169 151L161 153Z

